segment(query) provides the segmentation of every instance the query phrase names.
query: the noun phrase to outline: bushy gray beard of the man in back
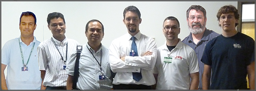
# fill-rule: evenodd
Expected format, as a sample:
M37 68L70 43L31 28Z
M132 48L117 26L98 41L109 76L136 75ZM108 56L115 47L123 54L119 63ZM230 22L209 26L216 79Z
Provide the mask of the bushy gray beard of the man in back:
M199 25L200 28L193 28L193 26L195 26L195 25ZM192 23L191 26L189 24L188 24L188 26L189 26L189 31L192 34L200 34L204 31L203 29L205 28L205 23L204 23L204 25L201 25L201 23Z

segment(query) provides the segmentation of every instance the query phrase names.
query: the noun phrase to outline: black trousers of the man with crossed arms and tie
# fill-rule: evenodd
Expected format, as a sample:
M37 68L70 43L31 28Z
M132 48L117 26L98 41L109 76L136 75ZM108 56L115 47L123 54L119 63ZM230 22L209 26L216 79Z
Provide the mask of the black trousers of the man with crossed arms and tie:
M151 86L149 85L137 85L137 84L119 84L114 85L113 89L151 89Z

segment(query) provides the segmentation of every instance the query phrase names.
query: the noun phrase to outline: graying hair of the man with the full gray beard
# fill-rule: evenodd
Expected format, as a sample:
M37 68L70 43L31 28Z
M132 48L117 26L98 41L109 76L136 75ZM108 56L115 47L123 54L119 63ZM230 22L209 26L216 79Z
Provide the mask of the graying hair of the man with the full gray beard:
M199 6L199 5L192 5L192 6L189 7L189 9L186 11L186 17L187 17L187 19L189 18L189 12L190 12L192 9L195 9L196 11L202 11L203 14L204 14L204 20L206 19L206 10L204 9L204 7Z

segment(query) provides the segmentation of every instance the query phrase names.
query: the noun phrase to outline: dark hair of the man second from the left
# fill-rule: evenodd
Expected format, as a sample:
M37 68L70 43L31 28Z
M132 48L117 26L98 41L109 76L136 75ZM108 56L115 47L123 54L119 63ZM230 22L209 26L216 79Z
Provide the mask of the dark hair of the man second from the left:
M65 19L64 19L64 15L59 13L59 12L52 12L52 13L49 13L48 14L48 17L47 17L47 23L48 25L50 24L51 20L54 19L54 18L61 18L64 22L64 24L66 24L65 22Z

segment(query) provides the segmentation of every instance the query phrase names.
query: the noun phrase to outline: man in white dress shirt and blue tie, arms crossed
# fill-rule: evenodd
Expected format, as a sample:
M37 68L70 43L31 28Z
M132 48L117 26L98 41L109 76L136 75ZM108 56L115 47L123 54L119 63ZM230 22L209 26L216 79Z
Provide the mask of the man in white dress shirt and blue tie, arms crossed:
M153 38L140 33L140 15L135 6L125 8L123 23L128 33L113 40L109 48L111 70L116 73L113 89L151 89L156 83L152 70L157 45Z

